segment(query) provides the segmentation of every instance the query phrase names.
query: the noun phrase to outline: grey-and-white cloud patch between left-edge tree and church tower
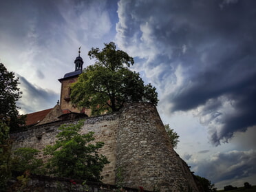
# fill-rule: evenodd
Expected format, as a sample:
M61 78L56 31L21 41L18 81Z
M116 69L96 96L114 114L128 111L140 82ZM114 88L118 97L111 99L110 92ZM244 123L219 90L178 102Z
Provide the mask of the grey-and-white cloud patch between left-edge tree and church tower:
M52 108L54 107L52 103L59 99L58 94L32 85L23 76L19 76L19 82L23 94L21 94L22 97L17 105L21 107L21 111L25 114Z

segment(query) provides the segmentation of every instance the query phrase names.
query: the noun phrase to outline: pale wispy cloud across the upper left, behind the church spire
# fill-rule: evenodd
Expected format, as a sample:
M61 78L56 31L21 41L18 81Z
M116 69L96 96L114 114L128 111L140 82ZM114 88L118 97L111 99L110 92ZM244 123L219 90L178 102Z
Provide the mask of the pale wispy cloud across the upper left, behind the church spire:
M56 79L74 69L78 47L88 65L88 50L113 39L109 7L98 0L1 2L1 62L40 87L56 89Z

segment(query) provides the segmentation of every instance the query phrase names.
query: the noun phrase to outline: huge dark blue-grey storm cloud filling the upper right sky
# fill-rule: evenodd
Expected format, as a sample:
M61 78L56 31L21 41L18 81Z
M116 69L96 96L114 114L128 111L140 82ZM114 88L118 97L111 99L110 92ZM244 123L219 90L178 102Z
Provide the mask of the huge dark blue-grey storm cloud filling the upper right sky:
M255 6L253 0L119 3L118 46L146 59L143 70L163 108L196 111L213 145L256 125Z

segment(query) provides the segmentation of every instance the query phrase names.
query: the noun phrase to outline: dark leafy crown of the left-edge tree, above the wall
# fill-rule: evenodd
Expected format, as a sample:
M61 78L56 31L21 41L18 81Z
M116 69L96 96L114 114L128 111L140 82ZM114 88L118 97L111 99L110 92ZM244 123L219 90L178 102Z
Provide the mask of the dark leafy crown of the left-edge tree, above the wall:
M19 78L14 72L8 72L3 63L0 63L0 120L10 127L10 130L25 124L25 116L19 116L17 100L21 98L19 92Z

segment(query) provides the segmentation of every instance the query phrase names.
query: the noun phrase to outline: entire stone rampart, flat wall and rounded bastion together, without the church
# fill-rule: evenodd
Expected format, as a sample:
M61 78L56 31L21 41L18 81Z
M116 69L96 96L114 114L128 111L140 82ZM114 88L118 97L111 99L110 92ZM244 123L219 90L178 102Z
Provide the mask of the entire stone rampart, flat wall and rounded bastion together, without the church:
M43 149L45 145L52 145L62 123L13 134L14 149ZM133 103L123 107L119 114L87 118L82 133L88 131L94 131L96 141L105 142L100 153L107 156L110 163L103 170L103 182L115 184L116 169L119 169L122 183L127 187L143 186L149 191L189 191L190 188L199 191L186 162L173 150L155 106Z

